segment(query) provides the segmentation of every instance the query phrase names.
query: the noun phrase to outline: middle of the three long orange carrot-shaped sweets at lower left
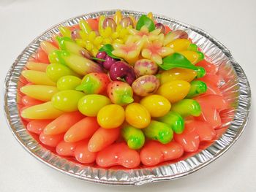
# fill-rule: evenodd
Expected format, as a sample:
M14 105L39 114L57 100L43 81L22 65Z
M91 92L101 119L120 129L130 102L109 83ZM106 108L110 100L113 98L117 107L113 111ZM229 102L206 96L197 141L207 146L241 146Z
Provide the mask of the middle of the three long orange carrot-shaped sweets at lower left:
M64 136L65 142L78 142L83 139L91 137L95 131L99 128L97 118L86 117L75 123L69 128Z

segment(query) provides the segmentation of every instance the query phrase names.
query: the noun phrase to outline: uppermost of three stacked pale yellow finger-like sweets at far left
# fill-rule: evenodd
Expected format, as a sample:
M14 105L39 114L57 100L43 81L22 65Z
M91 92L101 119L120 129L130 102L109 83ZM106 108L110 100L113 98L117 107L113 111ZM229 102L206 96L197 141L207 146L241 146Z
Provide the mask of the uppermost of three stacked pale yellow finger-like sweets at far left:
M56 82L50 80L45 72L38 72L34 70L25 70L21 72L23 77L25 77L30 82L33 82L36 85L56 85Z

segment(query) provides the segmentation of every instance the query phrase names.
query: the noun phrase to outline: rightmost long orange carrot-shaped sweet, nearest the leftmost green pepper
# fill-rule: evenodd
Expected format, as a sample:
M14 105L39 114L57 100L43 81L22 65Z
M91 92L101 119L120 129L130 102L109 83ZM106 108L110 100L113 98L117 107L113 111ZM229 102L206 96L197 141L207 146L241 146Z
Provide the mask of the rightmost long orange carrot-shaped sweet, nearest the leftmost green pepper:
M91 152L98 152L108 147L118 139L120 134L120 128L99 128L91 139L89 140L88 150Z

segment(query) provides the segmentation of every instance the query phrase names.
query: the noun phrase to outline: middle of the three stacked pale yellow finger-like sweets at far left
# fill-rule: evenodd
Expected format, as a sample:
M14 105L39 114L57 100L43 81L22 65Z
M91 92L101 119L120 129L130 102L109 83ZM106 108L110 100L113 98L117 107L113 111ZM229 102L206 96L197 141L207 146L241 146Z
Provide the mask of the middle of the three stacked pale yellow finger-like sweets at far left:
M58 89L48 85L26 85L20 88L20 91L31 98L50 101L53 95L58 92Z

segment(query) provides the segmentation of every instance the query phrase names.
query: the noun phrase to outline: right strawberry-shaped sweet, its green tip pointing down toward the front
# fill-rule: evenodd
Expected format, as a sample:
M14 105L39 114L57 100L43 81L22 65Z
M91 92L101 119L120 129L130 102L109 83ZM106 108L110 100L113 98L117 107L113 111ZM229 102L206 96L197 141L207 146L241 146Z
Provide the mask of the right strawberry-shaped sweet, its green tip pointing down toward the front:
M133 92L126 82L113 81L108 84L108 97L114 104L125 105L133 102Z

